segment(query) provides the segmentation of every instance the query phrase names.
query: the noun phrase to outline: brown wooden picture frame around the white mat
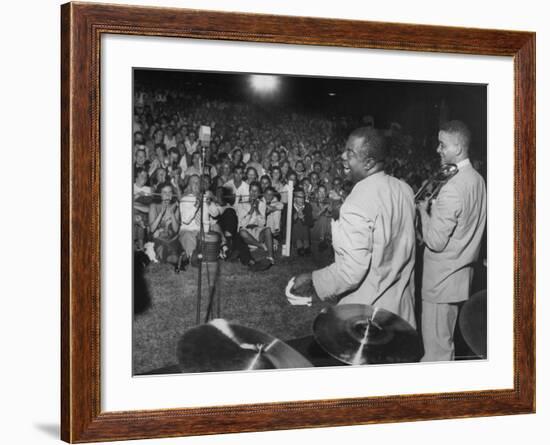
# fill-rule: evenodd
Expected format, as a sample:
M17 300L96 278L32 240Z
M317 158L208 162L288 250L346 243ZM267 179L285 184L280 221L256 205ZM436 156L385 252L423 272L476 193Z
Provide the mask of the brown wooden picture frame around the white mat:
M91 3L62 5L61 33L63 440L93 442L534 412L534 33ZM513 57L513 389L102 412L99 74L103 34Z

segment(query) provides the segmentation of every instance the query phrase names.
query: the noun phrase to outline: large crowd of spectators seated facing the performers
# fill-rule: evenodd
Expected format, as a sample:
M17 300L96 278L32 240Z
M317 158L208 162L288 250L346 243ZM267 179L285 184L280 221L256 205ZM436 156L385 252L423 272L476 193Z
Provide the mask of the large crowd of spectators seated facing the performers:
M351 191L340 154L364 117L326 116L137 88L133 116L134 242L156 261L185 267L200 221L220 239L220 256L250 267L263 249L274 264L292 206L292 254L331 246L330 221ZM201 165L199 128L209 126ZM417 190L438 168L398 124L385 130L390 174ZM290 184L293 199L289 203ZM202 218L199 209L204 193Z

